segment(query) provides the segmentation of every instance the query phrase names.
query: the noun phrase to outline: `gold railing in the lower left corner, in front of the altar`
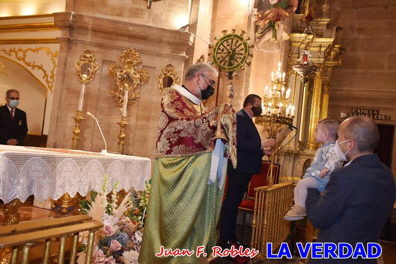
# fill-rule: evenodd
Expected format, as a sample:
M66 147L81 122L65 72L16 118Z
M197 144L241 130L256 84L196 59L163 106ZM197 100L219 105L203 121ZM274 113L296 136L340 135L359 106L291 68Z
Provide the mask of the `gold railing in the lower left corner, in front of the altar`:
M103 223L91 220L88 215L77 215L62 218L51 218L22 222L20 224L2 226L0 228L0 263L30 263L30 248L44 245L41 254L42 263L48 264L51 255L51 243L59 243L57 263L65 262L67 239L71 238L70 263L76 263L78 233L89 231L86 264L91 264L95 232L103 227ZM19 252L22 251L21 256Z

